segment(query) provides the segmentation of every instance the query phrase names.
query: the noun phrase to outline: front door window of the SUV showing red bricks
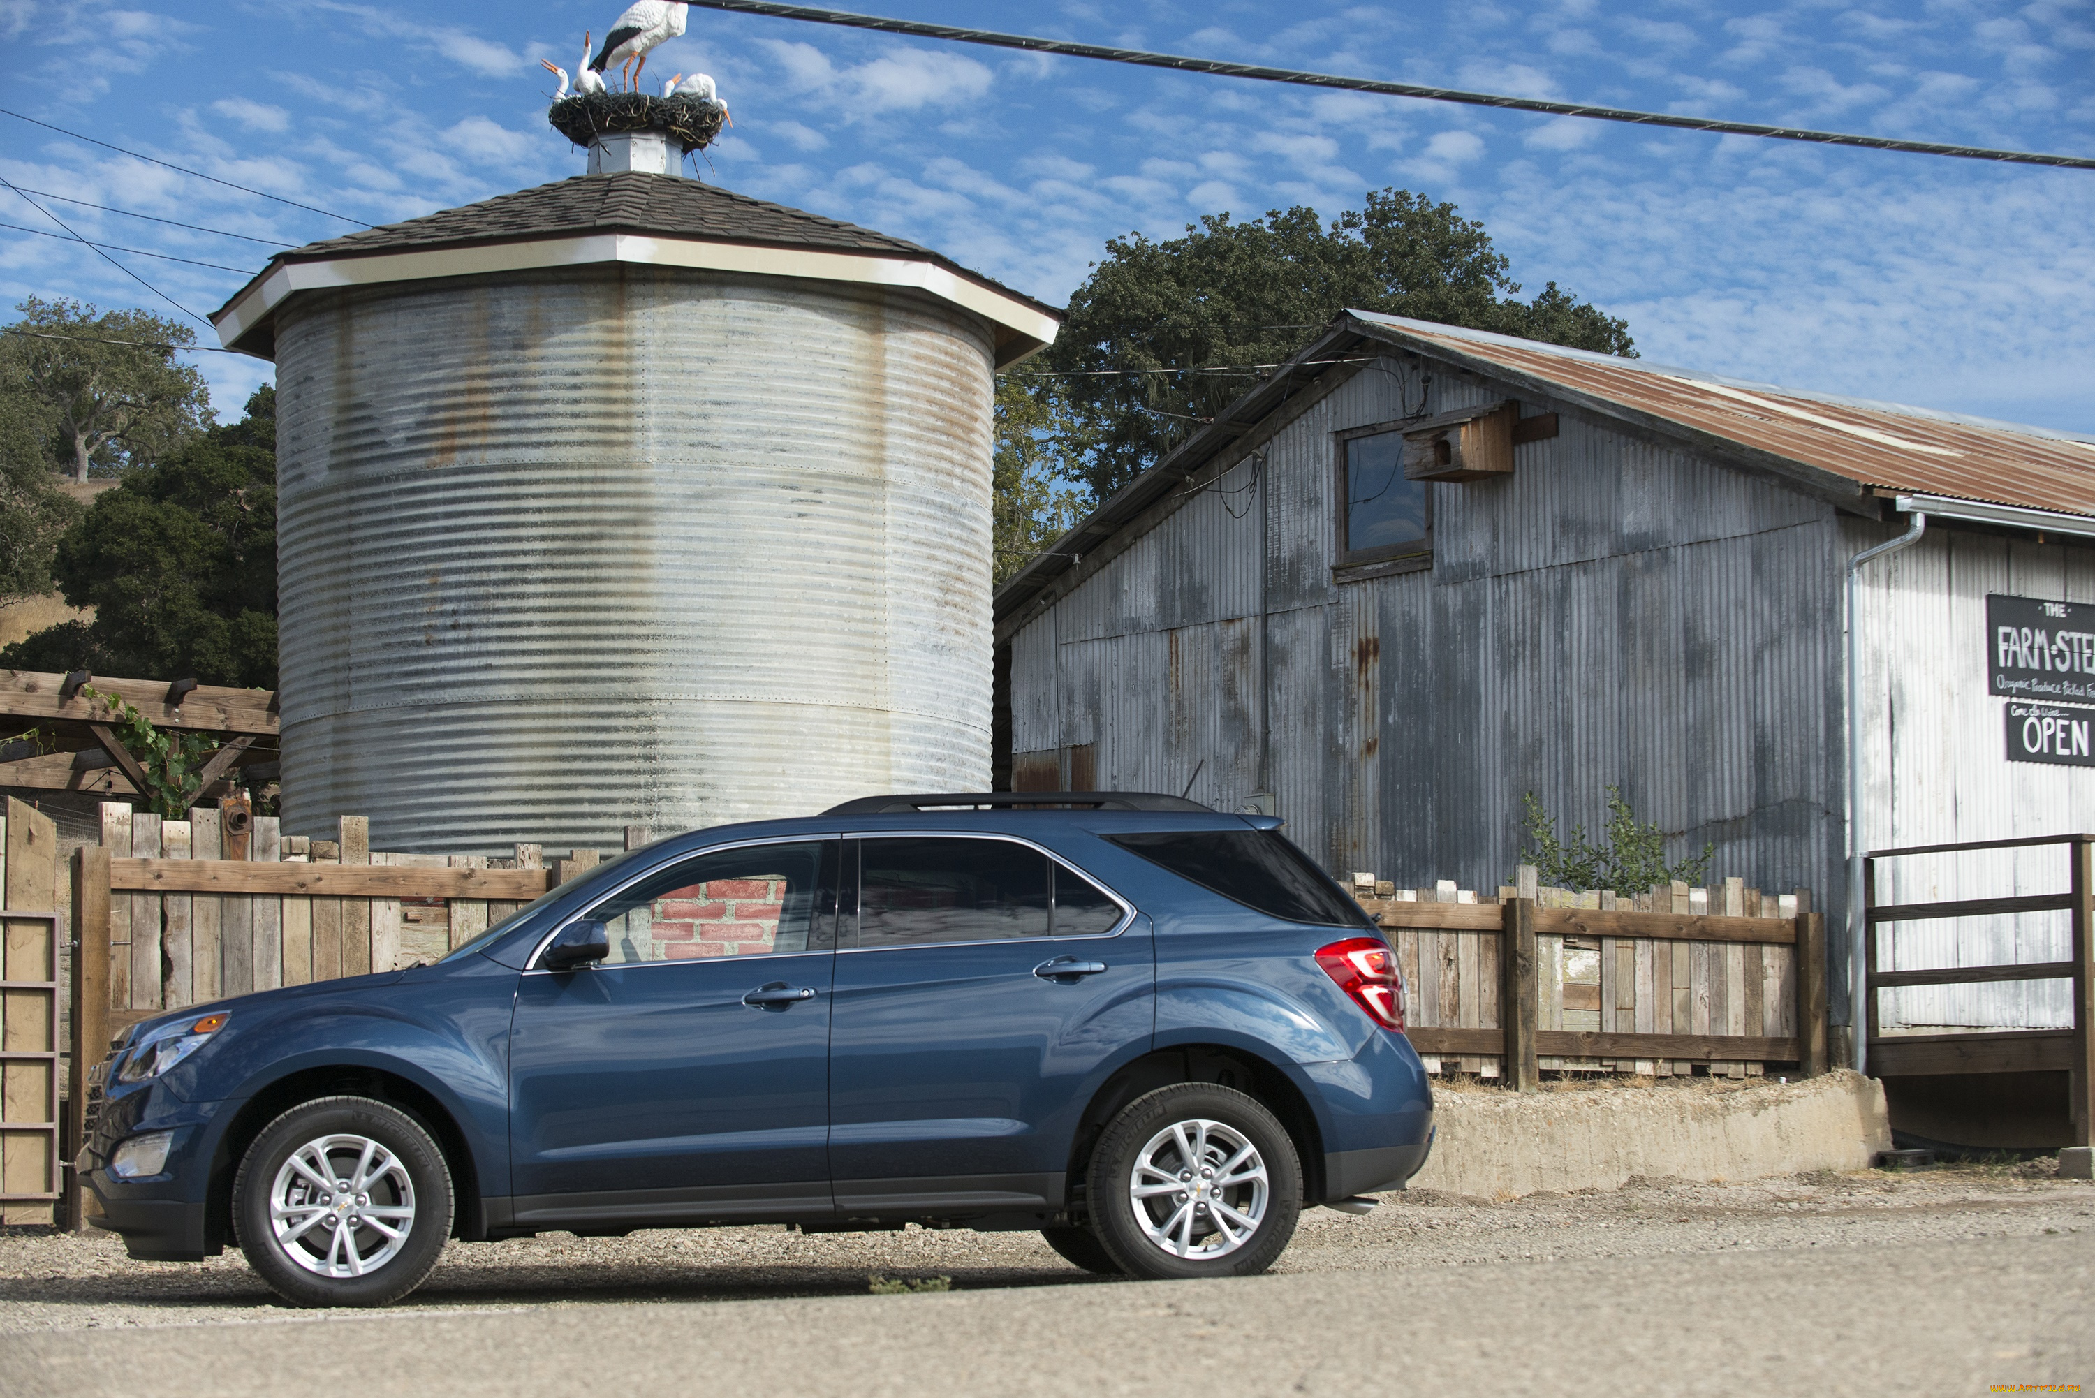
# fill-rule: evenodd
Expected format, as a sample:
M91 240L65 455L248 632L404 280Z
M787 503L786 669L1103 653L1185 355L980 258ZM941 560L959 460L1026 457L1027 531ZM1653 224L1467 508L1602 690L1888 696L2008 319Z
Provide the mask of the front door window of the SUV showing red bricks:
M658 870L591 908L608 964L821 952L832 945L823 861L834 840L744 845Z

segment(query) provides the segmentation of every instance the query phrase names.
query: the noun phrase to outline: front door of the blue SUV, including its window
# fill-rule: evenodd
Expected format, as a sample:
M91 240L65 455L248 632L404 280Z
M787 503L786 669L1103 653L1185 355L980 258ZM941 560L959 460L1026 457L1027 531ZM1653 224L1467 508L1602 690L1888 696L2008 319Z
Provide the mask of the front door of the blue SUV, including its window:
M828 1218L838 840L708 851L585 918L612 954L526 970L515 1222Z

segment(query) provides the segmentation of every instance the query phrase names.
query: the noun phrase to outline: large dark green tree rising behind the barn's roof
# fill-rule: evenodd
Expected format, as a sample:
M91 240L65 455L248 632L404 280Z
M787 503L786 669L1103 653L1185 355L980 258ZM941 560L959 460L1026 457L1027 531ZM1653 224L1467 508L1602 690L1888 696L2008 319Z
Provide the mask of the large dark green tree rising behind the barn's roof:
M1636 352L1624 321L1557 283L1519 289L1483 224L1399 189L1330 224L1309 207L1209 214L1182 239L1110 239L1039 367L1085 375L1064 379L1060 449L1106 499L1347 308ZM1100 373L1140 369L1173 373Z

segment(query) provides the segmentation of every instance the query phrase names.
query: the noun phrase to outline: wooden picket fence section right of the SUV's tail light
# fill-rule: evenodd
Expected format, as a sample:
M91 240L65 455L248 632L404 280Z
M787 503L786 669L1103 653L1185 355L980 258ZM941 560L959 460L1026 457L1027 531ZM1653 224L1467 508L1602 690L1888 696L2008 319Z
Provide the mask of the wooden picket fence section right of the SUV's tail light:
M1517 1086L1542 1069L1825 1071L1825 924L1810 893L1728 878L1617 897L1531 880L1523 868L1519 887L1479 897L1353 876L1397 949L1410 1040L1431 1071Z

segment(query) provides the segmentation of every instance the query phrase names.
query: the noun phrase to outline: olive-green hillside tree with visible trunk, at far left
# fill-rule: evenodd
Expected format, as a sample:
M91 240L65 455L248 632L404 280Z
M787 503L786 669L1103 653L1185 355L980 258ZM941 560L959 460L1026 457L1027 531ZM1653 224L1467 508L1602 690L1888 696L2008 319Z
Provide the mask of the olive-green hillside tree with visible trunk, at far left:
M21 319L0 333L0 379L42 409L31 430L75 480L157 461L210 425L203 375L172 348L140 348L193 344L186 325L34 296L17 310Z

